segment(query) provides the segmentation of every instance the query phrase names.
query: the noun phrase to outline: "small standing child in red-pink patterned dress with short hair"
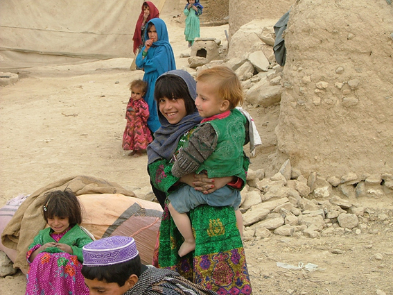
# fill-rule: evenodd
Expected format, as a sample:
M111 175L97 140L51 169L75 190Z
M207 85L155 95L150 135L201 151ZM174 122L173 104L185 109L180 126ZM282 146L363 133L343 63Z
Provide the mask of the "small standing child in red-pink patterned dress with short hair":
M149 107L143 100L147 87L148 84L141 79L130 83L131 97L125 112L127 125L123 133L123 149L132 151L129 155L134 157L141 156L152 142L152 135L147 125Z

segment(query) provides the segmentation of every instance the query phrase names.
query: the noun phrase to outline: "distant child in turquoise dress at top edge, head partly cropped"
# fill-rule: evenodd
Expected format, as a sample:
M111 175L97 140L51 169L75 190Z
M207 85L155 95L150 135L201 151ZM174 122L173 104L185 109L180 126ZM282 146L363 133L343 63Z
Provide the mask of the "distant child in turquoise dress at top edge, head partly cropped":
M202 15L202 10L203 6L200 5L199 0L187 0L183 12L186 15L184 35L186 35L186 41L189 42L189 47L193 45L195 38L200 37L199 16Z

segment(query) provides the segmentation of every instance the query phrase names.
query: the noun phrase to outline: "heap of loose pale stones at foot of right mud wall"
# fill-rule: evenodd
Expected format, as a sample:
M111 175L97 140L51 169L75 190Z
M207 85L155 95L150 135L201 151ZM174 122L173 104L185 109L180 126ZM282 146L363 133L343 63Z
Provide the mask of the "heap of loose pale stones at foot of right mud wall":
M302 175L297 178L293 176L289 160L270 178L264 178L263 169L249 169L247 185L241 192L245 239L268 237L272 233L315 238L346 232L360 234L367 229L365 224L360 224L360 220L365 212L370 214L371 209L363 208L349 198L341 198L331 189L333 185L327 180L322 181L320 176L315 178L311 174L308 179ZM358 185L363 187L361 192L372 192L374 196L383 186L392 189L392 175L385 174L383 177L387 181L382 185L381 181L367 182L367 179L377 179L376 176L360 181ZM355 179L358 180L355 174L349 174L335 181L334 185L353 187ZM370 183L373 188L367 187ZM377 183L380 187L375 187ZM387 188L387 183L390 183L390 188ZM381 216L380 219L383 218L385 217Z

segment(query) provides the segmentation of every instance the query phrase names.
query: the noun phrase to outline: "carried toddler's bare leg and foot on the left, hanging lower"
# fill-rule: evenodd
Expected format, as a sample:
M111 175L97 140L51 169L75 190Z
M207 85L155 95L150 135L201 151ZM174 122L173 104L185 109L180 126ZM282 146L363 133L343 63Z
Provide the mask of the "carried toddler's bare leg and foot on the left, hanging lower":
M193 235L191 221L186 213L177 212L175 208L173 208L171 203L169 203L168 209L169 212L171 212L171 216L177 226L177 229L184 237L184 242L182 246L180 246L179 251L177 252L180 257L183 257L187 253L195 250L195 237Z

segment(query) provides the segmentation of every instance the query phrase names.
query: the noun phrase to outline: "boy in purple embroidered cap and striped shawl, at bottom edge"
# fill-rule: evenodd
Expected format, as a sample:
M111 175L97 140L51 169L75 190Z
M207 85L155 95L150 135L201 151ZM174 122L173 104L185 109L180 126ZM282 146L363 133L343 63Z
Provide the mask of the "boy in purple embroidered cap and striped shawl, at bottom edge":
M82 248L82 275L90 295L218 295L169 269L141 263L132 237L98 239Z

